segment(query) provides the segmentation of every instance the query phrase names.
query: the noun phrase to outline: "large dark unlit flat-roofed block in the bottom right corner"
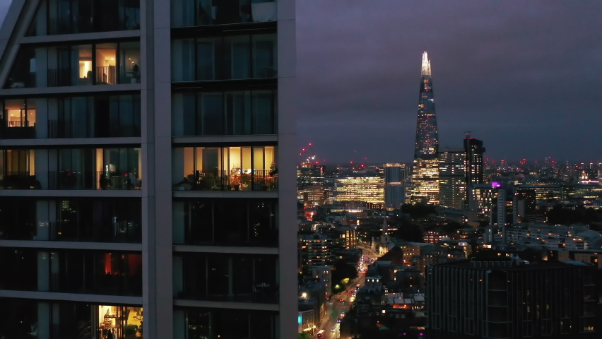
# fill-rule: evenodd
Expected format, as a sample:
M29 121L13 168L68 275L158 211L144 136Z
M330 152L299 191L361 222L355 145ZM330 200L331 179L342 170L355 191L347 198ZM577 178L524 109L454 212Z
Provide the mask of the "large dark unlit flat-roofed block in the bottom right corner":
M596 266L517 257L427 268L429 338L599 338Z

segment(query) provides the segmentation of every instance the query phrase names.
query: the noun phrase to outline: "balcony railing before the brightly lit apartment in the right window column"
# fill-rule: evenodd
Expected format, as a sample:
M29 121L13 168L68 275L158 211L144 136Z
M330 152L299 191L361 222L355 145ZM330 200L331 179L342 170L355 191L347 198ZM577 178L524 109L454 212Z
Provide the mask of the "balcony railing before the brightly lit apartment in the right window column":
M249 174L227 171L189 174L173 185L174 191L276 191L278 171L256 170Z

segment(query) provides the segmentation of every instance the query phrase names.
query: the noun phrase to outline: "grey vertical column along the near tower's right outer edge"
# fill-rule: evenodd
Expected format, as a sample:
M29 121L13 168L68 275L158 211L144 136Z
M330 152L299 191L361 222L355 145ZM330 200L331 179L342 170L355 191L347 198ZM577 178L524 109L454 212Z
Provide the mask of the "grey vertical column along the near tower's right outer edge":
M297 336L297 52L295 0L278 0L278 338Z

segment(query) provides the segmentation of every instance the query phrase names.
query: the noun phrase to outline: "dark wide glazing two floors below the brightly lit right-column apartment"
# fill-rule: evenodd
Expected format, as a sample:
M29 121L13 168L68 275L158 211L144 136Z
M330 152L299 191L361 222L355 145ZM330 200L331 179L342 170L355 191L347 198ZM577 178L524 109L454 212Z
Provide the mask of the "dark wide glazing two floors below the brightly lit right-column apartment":
M175 254L175 299L278 303L278 256Z

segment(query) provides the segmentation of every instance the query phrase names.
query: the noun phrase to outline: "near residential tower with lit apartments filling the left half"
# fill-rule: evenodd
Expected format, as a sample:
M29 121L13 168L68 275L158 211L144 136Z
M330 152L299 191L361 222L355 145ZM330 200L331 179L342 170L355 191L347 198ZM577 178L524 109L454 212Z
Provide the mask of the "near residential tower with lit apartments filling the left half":
M0 87L0 338L296 337L294 0L13 0Z

